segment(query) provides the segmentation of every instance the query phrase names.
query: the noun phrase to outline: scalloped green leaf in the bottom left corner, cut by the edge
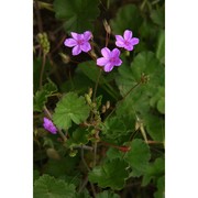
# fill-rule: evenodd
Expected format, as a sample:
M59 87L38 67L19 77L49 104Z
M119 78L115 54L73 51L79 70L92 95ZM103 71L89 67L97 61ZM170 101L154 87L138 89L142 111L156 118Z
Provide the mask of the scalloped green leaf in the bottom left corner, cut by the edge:
M34 183L34 198L75 198L75 186L43 175Z

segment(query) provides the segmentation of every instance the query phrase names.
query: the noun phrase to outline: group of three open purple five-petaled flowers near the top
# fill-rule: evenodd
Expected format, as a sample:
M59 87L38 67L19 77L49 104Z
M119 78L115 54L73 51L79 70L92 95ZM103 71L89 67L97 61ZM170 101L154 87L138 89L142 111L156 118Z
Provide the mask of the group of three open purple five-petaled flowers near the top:
M64 44L68 47L73 48L73 55L76 56L81 52L88 53L91 50L91 45L89 40L91 40L92 34L90 31L86 31L82 34L77 34L72 32L72 38L66 38ZM132 31L125 30L123 36L116 35L116 45L118 47L125 48L127 51L133 51L133 46L139 44L139 38L133 37ZM110 51L108 47L103 47L101 50L101 54L103 57L97 58L97 65L102 66L103 70L109 73L113 69L114 66L120 66L122 61L120 59L120 51L118 48L113 48Z

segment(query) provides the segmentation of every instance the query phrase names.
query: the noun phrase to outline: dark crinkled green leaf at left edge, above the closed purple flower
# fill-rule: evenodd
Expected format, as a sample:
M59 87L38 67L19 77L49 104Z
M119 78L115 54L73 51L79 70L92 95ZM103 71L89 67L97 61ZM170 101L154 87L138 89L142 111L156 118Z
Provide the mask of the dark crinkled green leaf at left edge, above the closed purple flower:
M47 102L47 98L57 91L57 86L48 79L41 90L36 91L34 96L34 111L42 112L43 107Z

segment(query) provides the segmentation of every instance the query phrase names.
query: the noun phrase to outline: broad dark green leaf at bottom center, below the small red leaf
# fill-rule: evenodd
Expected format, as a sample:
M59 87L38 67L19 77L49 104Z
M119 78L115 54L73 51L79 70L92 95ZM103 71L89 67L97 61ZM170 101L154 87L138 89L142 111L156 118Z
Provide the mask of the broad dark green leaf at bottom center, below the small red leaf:
M89 173L89 180L97 183L98 186L106 188L110 187L120 190L124 187L125 178L128 177L127 163L120 160L113 160L106 164L95 167Z

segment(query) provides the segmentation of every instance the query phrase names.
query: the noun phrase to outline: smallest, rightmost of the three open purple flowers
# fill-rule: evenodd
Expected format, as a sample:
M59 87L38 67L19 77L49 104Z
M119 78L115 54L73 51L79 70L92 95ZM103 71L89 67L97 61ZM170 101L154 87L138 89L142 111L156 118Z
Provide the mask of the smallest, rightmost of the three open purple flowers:
M125 30L123 37L121 35L116 35L116 45L119 47L123 47L127 51L132 51L133 46L139 44L138 37L132 37L133 33L132 31Z

